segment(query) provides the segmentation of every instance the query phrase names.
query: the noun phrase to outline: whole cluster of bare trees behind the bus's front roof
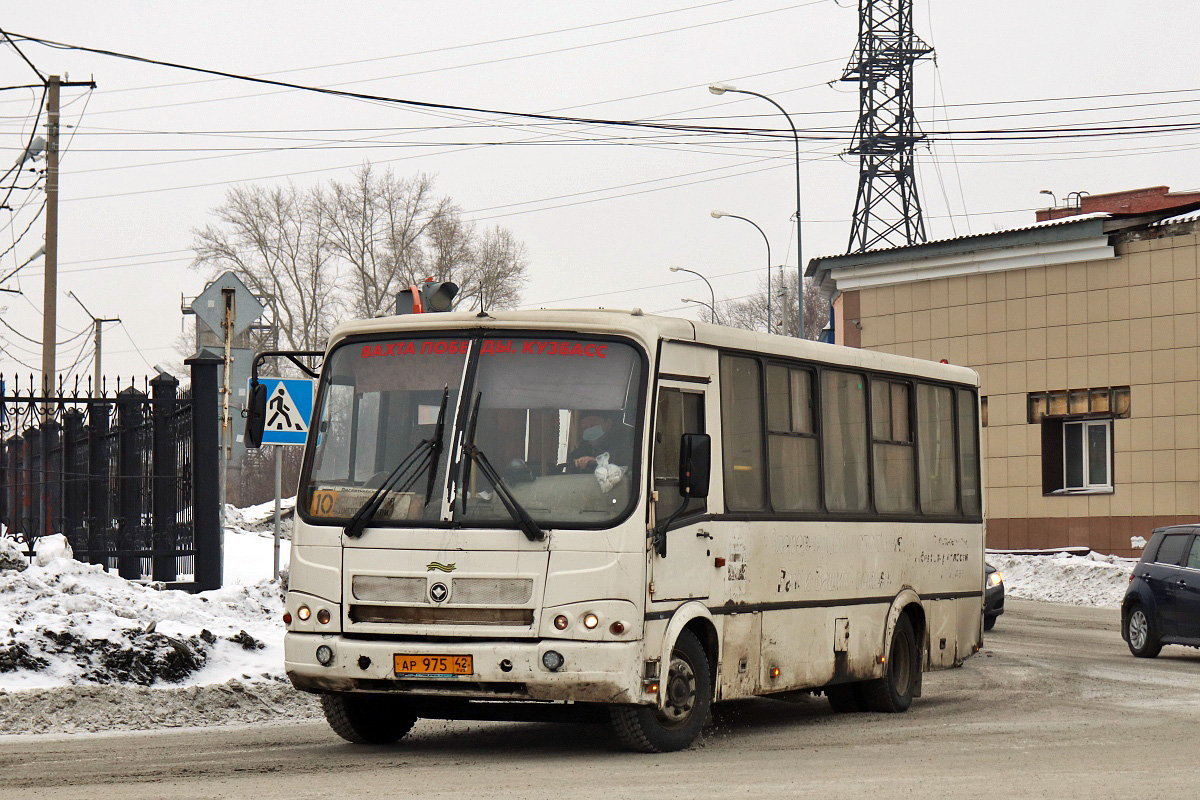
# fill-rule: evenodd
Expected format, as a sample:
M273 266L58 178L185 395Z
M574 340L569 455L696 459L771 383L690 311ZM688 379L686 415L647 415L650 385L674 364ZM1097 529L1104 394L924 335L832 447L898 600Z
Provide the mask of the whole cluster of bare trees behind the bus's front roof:
M510 308L527 279L524 245L496 227L476 235L425 174L397 178L370 163L348 181L307 191L238 187L196 230L196 269L234 270L276 299L281 344L317 349L342 314L391 313L426 278L461 287L458 307Z

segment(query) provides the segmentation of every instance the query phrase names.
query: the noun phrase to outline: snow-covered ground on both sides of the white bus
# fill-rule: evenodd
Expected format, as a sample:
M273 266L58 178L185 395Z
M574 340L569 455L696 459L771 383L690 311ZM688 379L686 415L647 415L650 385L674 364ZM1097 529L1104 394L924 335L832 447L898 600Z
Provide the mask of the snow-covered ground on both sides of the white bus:
M0 547L0 735L318 716L283 674L272 515L270 503L227 510L226 588L199 595L125 581L49 542L40 563L5 570ZM290 535L289 518L283 530ZM1076 606L1118 604L1134 564L1097 554L988 560L1009 597Z

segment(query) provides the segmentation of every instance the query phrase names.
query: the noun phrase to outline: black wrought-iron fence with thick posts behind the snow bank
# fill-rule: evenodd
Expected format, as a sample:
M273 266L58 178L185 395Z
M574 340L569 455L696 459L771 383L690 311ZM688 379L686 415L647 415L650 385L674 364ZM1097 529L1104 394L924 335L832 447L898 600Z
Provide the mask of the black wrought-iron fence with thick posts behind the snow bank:
M82 561L132 581L221 585L216 365L106 392L37 391L0 375L0 525L32 553L64 534ZM208 449L208 451L205 451Z

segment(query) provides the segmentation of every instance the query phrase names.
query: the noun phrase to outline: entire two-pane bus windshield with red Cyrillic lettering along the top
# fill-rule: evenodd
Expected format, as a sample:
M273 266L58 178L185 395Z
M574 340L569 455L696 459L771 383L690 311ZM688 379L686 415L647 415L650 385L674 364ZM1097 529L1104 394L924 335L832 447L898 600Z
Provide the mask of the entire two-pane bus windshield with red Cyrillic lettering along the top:
M346 524L406 456L430 450L420 445L434 435L449 391L438 463L413 458L370 524L512 528L496 487L463 457L463 445L474 445L541 528L608 527L637 498L644 373L629 344L588 338L338 345L310 435L301 513Z

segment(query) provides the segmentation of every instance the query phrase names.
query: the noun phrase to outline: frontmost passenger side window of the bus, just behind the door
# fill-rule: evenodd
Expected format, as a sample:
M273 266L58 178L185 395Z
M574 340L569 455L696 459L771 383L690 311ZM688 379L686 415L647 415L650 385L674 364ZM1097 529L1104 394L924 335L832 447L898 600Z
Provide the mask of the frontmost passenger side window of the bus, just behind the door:
M726 511L766 509L762 389L755 359L721 356L721 459Z

